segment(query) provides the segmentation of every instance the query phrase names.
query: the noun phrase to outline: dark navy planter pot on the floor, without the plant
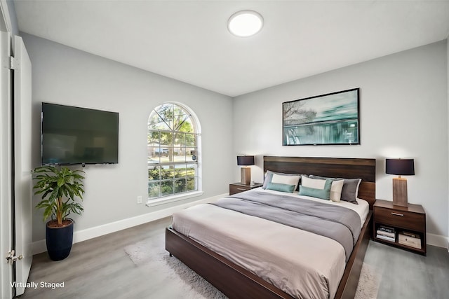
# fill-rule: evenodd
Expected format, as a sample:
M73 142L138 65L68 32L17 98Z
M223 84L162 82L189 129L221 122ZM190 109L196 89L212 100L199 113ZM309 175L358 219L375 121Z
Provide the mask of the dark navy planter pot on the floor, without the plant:
M48 256L51 260L63 260L70 254L73 244L73 220L62 228L49 228L46 225L46 243ZM50 221L49 221L50 222Z

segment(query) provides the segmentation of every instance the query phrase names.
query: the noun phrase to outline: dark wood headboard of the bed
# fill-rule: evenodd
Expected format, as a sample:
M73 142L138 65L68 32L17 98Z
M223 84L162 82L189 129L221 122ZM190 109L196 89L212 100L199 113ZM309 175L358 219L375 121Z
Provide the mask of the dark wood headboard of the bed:
M315 174L345 179L362 179L358 198L366 200L373 209L376 197L376 160L365 158L311 158L264 156L264 172L286 174Z

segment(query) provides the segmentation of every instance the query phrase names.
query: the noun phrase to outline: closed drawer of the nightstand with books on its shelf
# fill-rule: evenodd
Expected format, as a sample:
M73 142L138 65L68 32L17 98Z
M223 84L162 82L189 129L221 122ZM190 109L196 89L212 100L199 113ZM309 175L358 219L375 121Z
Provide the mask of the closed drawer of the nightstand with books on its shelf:
M377 222L394 225L400 228L416 230L421 232L425 228L425 215L409 211L385 209L375 207L375 218Z

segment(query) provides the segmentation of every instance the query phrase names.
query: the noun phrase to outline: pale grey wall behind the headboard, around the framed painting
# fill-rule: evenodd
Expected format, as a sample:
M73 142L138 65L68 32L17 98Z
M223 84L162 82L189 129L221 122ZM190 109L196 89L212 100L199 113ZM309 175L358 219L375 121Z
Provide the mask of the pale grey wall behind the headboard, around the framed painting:
M376 195L386 200L394 176L384 159L415 158L408 200L424 206L427 232L441 242L448 236L446 56L442 41L236 97L234 149L258 155L254 181L263 179L262 155L376 158ZM360 146L281 145L282 102L349 88L361 88Z

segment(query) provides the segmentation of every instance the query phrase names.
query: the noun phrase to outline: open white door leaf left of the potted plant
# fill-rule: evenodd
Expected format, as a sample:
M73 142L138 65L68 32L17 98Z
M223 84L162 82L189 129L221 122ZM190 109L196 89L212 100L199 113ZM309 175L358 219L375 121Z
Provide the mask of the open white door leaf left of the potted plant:
M32 263L31 61L20 36L14 36L15 295L25 292Z

